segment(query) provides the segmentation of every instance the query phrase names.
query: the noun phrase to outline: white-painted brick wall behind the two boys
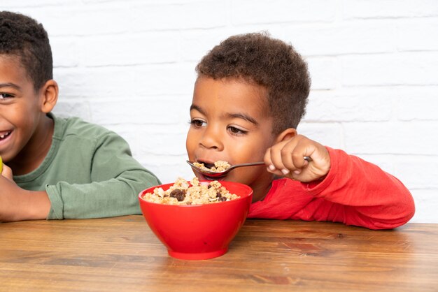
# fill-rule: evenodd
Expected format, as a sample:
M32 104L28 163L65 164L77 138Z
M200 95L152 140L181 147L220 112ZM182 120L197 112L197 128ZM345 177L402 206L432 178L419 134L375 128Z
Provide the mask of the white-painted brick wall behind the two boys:
M57 115L117 131L163 182L185 164L195 64L232 34L269 31L309 62L299 131L396 175L412 221L438 223L438 1L1 0L48 30Z

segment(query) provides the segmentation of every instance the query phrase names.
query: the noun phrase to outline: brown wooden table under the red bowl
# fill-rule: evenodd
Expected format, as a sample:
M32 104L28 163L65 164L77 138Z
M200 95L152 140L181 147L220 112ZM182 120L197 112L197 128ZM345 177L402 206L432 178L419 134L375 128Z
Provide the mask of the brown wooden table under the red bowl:
M438 291L438 224L247 220L227 254L167 255L141 216L0 224L0 291Z

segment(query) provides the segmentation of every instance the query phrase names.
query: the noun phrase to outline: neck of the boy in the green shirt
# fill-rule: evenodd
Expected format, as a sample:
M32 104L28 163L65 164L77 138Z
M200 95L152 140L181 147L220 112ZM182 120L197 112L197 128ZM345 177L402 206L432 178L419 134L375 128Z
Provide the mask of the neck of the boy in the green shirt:
M52 145L53 128L54 122L50 117L41 117L27 145L8 163L14 175L25 175L41 165Z

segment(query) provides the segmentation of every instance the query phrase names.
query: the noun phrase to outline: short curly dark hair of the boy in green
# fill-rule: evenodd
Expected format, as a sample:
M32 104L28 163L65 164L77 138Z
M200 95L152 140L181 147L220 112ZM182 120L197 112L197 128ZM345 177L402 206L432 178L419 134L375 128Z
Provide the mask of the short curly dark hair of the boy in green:
M20 58L35 90L53 78L52 50L47 31L31 17L0 11L0 54Z

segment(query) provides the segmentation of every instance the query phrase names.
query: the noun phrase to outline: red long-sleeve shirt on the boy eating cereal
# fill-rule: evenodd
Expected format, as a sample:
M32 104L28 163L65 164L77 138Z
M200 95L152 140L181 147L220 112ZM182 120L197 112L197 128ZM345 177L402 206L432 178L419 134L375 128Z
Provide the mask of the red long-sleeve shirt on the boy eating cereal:
M357 156L327 149L331 167L323 181L274 180L267 196L251 205L248 218L334 221L390 229L414 216L414 199L400 180Z

